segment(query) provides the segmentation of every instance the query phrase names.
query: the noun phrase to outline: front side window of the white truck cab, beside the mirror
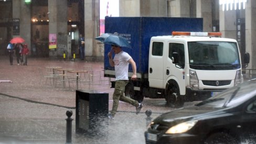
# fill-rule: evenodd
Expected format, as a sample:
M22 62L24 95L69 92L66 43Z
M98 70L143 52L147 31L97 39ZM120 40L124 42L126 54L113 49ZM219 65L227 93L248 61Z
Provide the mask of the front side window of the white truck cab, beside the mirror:
M181 43L169 43L169 58L172 59L173 53L178 53L178 64L180 67L185 67L185 53L184 44Z

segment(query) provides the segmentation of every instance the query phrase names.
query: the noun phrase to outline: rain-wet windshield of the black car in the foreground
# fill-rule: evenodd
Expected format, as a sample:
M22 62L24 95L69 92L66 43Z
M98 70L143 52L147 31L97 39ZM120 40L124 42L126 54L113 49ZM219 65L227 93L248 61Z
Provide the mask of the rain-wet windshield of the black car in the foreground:
M256 81L244 82L237 87L225 90L215 97L202 101L196 106L230 107L247 101L256 94Z

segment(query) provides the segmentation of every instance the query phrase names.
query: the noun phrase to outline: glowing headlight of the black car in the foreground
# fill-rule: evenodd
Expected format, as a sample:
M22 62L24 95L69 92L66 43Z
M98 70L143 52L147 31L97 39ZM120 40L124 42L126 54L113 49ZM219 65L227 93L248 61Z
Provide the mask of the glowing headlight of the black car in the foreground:
M198 120L193 120L193 121L188 121L188 122L180 123L178 125L175 125L175 126L169 128L165 132L165 134L184 133L184 132L188 131L189 129L191 129L197 122L198 122Z

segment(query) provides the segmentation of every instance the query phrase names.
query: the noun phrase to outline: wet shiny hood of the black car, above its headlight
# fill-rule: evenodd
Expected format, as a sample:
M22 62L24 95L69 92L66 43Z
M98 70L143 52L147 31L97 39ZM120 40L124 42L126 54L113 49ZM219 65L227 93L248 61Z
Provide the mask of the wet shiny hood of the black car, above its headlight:
M187 106L180 109L162 114L154 119L155 123L181 123L192 119L200 119L208 116L214 116L225 113L223 107L201 107Z

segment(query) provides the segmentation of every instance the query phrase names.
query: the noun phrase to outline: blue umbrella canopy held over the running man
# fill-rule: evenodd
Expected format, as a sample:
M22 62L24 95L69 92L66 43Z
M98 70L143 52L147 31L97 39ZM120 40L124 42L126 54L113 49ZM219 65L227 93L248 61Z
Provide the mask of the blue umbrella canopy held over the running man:
M132 48L132 46L129 44L129 42L124 37L122 37L120 35L114 35L112 33L104 33L95 39L100 42L103 42L105 44L112 44L112 45L117 45L120 47Z

